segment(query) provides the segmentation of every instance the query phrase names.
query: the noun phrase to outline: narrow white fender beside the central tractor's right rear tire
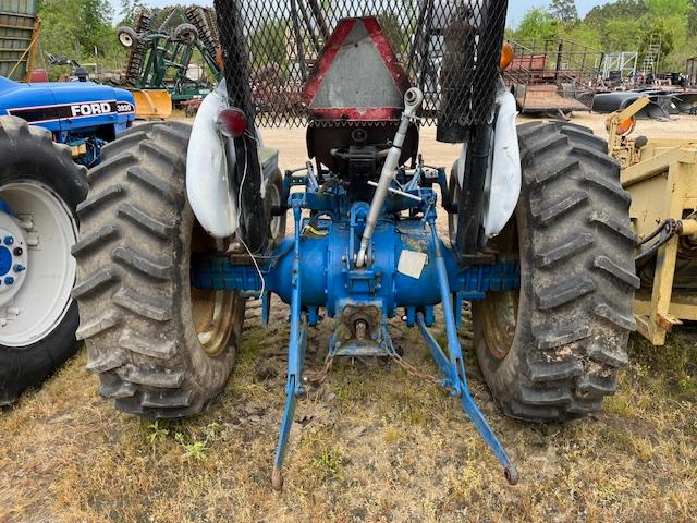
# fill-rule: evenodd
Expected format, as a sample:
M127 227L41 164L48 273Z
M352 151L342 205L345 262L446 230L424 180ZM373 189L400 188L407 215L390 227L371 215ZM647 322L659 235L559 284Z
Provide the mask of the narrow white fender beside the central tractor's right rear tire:
M493 137L489 210L484 220L487 238L499 234L515 212L523 181L521 147L515 125L518 115L515 97L509 90L502 90L497 97L497 104L499 115Z

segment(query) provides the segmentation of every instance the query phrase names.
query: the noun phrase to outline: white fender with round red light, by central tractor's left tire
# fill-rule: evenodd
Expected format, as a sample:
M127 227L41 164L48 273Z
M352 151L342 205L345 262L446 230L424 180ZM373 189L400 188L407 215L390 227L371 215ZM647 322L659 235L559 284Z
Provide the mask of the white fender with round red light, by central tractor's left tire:
M213 238L231 236L237 229L237 203L228 178L225 138L218 132L217 118L228 107L225 83L206 96L198 109L186 155L186 195L194 216Z

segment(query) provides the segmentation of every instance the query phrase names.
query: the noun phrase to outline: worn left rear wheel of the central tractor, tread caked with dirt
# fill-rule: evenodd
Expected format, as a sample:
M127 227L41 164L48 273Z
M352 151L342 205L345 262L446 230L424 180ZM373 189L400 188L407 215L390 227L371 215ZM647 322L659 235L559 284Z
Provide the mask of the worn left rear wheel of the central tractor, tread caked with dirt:
M87 368L118 409L150 418L204 411L235 362L245 302L192 289L192 254L228 245L208 236L186 200L191 127L134 127L102 149L88 173L73 250L77 337Z

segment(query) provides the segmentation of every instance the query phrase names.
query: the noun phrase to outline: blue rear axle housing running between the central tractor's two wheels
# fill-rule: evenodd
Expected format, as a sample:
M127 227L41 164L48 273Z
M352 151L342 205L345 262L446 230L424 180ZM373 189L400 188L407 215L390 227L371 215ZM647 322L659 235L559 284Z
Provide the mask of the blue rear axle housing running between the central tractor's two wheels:
M438 271L433 263L428 263L421 278L414 279L398 272L400 255L404 250L424 245L428 234L424 232L420 220L404 220L399 224L381 222L374 240L374 265L368 270L353 270L348 266L347 255L352 238L357 229L346 227L346 222L320 223L328 234L316 236L305 233L301 236L303 264L301 272L308 280L303 289L303 305L327 308L329 317L334 317L337 304L346 294L358 297L378 296L384 301L386 314L394 317L399 308L437 305L440 303L438 291ZM354 234L352 234L352 232ZM293 288L290 278L293 263L292 240L285 240L270 257L262 263L261 273L266 289L290 303ZM519 287L517 260L500 262L490 266L457 267L451 251L439 240L443 251L449 284L463 300L484 300L488 292L504 292ZM419 246L418 248L423 248ZM424 248L427 252L429 248ZM201 258L192 273L193 284L199 289L237 290L249 293L261 291L261 278L253 264L231 264L228 256Z

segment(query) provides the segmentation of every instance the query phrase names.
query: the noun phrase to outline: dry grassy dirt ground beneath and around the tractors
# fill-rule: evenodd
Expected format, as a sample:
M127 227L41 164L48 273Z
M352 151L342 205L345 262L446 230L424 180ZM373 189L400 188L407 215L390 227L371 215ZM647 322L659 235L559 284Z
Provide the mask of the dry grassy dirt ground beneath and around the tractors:
M602 120L577 123L602 129ZM640 123L697 136L697 118ZM455 147L432 142L429 163ZM265 131L283 168L305 161L302 131ZM565 425L505 418L473 357L470 387L521 471L510 487L461 411L436 386L384 362L341 362L298 403L285 489L270 488L283 408L288 307L268 328L250 303L239 364L207 414L151 423L99 398L85 355L0 412L0 522L687 522L697 521L697 329L667 348L631 342L604 411ZM436 373L418 333L391 325L405 358ZM321 366L331 326L310 335ZM442 327L435 329L442 339Z

